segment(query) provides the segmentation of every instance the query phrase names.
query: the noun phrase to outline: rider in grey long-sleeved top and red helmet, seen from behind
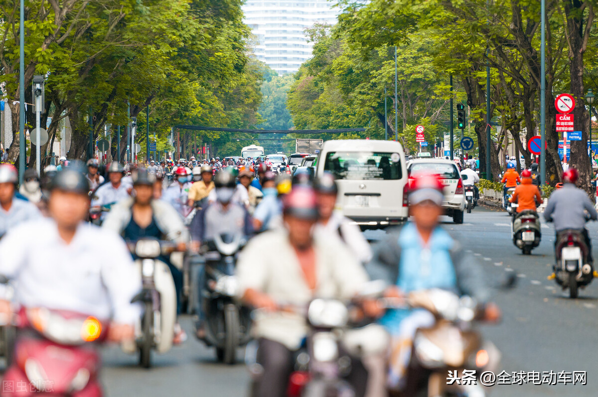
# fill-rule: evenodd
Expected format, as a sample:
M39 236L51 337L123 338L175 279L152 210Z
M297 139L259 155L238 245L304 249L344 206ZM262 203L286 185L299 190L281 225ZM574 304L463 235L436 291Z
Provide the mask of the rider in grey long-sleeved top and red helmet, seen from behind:
M588 229L585 228L586 215L584 211L587 211L590 219L593 220L598 219L598 213L585 190L575 186L578 177L579 174L575 168L569 168L563 173L563 187L554 190L550 195L550 200L544 210L544 219L547 222L554 222L555 248L559 242L560 232L566 229L580 230L584 236L585 245L588 247L588 264L592 265L594 259Z

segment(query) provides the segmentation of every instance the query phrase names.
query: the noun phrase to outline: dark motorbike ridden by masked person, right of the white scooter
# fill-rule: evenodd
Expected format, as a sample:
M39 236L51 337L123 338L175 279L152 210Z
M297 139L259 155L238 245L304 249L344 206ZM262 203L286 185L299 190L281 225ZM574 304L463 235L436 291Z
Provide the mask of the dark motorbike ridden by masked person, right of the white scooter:
M245 238L241 235L216 235L206 241L205 277L203 282L196 283L197 292L191 294L200 299L205 314L205 337L200 340L215 347L216 358L225 364L234 364L237 347L244 346L251 338L250 311L234 300L236 256L243 245Z

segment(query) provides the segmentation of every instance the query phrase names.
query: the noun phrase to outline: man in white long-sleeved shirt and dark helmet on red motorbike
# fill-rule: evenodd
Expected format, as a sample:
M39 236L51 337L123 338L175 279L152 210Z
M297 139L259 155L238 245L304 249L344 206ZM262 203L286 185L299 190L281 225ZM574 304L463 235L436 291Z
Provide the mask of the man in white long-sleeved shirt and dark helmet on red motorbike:
M84 222L88 192L83 173L57 173L48 200L50 217L20 224L0 241L0 274L14 282L14 301L21 306L111 319L109 338L131 340L141 313L130 302L141 291L141 276L116 233ZM8 298L7 287L0 285L0 313L7 315Z

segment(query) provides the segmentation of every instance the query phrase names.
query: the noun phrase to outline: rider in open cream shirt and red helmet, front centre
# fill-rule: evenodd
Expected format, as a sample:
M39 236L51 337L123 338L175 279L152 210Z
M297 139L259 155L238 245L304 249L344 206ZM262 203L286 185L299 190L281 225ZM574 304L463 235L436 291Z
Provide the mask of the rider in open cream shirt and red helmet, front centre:
M294 187L283 202L285 228L251 239L236 267L239 297L260 309L252 329L257 362L263 368L252 387L259 397L286 396L294 352L307 336L304 316L282 313L279 303L307 305L314 296L349 299L367 281L363 267L338 239L315 232L318 208L313 189ZM355 395L363 396L367 371L361 361L352 360L347 377Z

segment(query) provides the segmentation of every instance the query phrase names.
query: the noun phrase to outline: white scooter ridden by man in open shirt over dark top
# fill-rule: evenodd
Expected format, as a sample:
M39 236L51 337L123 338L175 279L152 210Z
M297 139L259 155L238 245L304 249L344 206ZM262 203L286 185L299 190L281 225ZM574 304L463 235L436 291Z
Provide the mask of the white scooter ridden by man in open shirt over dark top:
M137 257L135 266L142 277L142 290L133 302L143 304L143 313L136 324L136 340L124 343L124 352L139 352L139 365L151 367L151 351L166 353L172 347L176 323L176 288L172 273L159 258L177 251L171 242L140 239L129 248Z

